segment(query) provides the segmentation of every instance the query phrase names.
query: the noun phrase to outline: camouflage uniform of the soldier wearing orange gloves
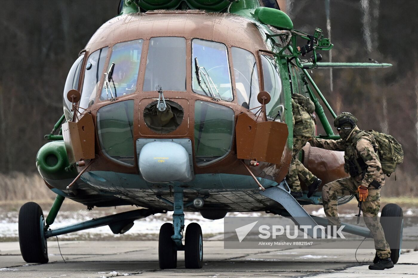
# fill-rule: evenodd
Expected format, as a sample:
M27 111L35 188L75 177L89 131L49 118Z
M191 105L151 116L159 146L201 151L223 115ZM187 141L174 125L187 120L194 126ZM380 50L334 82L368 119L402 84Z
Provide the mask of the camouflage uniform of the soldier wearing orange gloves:
M354 143L357 144L354 146ZM346 140L325 140L312 139L310 142L313 147L329 149L334 151L345 151L344 159L346 164L344 168L347 171L347 159L361 158L367 165L367 169L363 173L357 175L350 175L350 177L337 179L334 182L329 182L322 188L322 202L324 204L325 215L331 225L341 225L337 211L338 196L347 196L356 194L360 185L368 187L369 195L367 199L362 202L362 212L364 222L370 229L375 240L375 248L377 255L381 259L390 258L390 248L385 240L382 225L377 220L377 215L380 210L380 189L375 189L370 183L375 180L381 185L385 184L385 177L377 157L377 154L372 146L375 144L373 139L359 130L357 126L354 127ZM370 185L370 186L369 186Z

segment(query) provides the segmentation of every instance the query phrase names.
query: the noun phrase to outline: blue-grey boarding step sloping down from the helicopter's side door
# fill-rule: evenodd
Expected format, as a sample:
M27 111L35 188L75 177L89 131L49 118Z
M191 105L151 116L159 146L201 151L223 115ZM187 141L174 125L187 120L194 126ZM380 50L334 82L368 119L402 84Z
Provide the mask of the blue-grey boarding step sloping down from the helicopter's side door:
M263 195L264 197L274 200L282 205L299 226L310 226L311 228L307 230L307 233L310 237L314 238L314 227L318 224L311 217L311 215L309 215L308 212L306 212L306 210L304 210L303 207L299 205L298 201L293 198L293 196L290 194L289 186L285 180L280 182L280 184L275 187L269 187L265 191L260 190L260 195ZM322 233L322 230L316 229L315 237L321 237Z

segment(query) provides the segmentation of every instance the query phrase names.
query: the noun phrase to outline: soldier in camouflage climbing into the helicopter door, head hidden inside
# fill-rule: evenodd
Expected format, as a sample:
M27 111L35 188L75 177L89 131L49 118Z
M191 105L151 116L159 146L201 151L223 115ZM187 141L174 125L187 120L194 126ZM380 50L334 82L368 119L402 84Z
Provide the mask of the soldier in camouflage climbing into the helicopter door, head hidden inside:
M321 179L318 179L306 169L297 157L308 139L315 136L315 121L312 115L314 109L314 103L310 99L301 94L293 94L293 152L287 181L291 189L291 195L295 198L303 196L299 179L308 185L308 198L321 185Z

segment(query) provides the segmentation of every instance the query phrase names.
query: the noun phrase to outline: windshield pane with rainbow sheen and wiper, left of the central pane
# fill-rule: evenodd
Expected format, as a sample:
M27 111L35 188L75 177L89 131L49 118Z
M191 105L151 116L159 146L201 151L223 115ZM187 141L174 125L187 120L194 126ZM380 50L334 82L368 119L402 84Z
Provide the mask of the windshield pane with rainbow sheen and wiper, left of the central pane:
M109 72L109 83L107 86L103 85L100 100L117 98L136 91L142 44L143 40L140 39L116 43L112 47L112 55L106 69L106 72ZM115 65L112 66L112 63Z

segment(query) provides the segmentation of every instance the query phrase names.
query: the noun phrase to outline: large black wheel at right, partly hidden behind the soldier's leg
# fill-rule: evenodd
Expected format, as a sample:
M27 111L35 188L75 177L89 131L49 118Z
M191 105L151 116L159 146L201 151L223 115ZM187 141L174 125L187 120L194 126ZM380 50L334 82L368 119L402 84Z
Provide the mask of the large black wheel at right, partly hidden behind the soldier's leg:
M389 246L399 247L398 249L390 248L390 259L393 261L393 263L398 263L400 250L402 248L402 208L396 204L385 205L380 215L380 224L383 227L383 231L385 232L385 238L387 243L389 243ZM379 260L379 257L377 257L376 253L373 263L377 263L377 260Z

